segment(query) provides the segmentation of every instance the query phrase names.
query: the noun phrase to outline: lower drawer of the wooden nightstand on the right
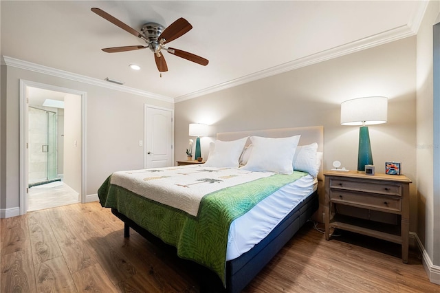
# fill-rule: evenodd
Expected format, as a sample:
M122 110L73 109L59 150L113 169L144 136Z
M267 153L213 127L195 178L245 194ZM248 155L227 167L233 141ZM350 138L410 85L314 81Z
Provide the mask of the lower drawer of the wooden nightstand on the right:
M381 197L362 193L350 193L349 191L330 191L330 201L336 204L351 204L375 210L401 211L401 199L399 197Z

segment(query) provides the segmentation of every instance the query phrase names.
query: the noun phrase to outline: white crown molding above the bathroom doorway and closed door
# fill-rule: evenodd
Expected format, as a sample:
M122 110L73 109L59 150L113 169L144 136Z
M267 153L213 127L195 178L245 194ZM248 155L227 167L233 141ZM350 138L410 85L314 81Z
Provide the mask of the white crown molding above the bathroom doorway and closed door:
M151 93L149 91L142 91L140 89L135 89L133 87L126 87L124 85L113 85L107 81L100 80L98 78L92 78L89 76L83 76L80 74L74 74L72 72L65 72L61 69L56 69L52 67L47 67L44 65L39 65L36 63L19 60L9 56L2 56L1 64L8 65L11 67L17 67L21 69L30 70L32 72L38 72L41 74L48 74L51 76L56 76L60 78L65 78L69 80L78 81L80 83L87 83L89 85L97 85L98 87L105 87L107 89L113 89L115 91L123 91L128 94L135 94L137 96L144 96L146 98L153 98L155 100L162 100L165 102L173 102L174 99L168 96L162 96L158 94Z

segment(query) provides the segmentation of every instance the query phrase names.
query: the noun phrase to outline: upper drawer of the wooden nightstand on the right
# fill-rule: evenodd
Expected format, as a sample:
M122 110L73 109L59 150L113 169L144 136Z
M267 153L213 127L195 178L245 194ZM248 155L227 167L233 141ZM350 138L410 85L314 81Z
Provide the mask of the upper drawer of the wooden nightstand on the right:
M388 184L385 182L372 184L371 182L366 182L365 180L350 181L350 180L331 179L330 188L347 189L350 191L363 191L366 193L380 193L383 195L401 196L400 184Z

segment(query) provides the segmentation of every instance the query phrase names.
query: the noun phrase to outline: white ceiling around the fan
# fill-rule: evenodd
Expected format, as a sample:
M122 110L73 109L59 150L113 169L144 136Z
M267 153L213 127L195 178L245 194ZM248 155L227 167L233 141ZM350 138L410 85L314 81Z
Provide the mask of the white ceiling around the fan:
M148 49L102 52L145 43L92 7L137 31L184 17L192 30L168 45L210 63L164 52L161 78ZM178 101L413 35L425 9L426 1L2 0L1 54Z

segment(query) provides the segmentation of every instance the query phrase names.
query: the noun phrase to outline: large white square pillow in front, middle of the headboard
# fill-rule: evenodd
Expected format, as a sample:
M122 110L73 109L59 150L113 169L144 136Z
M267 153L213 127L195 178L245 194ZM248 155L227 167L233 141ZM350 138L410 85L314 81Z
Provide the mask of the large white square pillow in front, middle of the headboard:
M241 167L248 171L270 171L281 174L292 174L293 160L300 135L289 138L262 138L251 136L252 153L248 164Z

